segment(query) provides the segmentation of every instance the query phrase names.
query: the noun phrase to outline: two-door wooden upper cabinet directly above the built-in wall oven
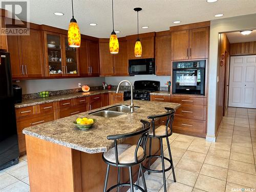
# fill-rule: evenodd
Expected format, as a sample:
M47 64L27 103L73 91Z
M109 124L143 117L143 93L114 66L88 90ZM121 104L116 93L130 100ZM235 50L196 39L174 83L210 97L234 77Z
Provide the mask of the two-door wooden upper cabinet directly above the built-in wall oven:
M208 58L209 22L170 27L172 60Z

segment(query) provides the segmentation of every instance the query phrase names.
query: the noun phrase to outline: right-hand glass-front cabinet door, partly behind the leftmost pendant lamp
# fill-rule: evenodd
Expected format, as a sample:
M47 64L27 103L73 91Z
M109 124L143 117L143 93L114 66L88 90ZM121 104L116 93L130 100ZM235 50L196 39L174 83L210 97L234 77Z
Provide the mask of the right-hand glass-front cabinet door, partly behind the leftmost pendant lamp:
M65 42L65 74L68 76L77 76L78 75L77 48L69 47L67 36L64 36L64 42Z

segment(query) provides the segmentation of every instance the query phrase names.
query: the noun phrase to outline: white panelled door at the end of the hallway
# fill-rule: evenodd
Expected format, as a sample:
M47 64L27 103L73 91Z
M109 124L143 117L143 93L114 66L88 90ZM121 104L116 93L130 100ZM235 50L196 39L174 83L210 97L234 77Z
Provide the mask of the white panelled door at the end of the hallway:
M230 57L228 106L256 108L256 55Z

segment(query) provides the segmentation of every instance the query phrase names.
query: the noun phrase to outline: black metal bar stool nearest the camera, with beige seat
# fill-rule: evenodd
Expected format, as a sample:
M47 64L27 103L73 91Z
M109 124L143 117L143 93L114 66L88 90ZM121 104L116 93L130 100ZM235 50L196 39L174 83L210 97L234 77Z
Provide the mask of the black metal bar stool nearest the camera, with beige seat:
M144 175L142 176L144 189L138 185L133 184L133 173L132 166L139 164L139 171L143 173L142 162L146 159L146 143L149 136L149 131L151 124L148 121L140 120L143 123L143 129L133 133L127 133L123 135L109 135L107 138L110 140L114 140L115 146L111 148L108 152L103 153L102 159L107 164L106 167L106 176L104 182L103 191L111 191L112 189L117 187L117 191L119 192L119 187L121 186L131 186L131 191L133 192L133 186L139 188L140 191L147 191L146 182ZM137 144L117 144L118 139L125 139L129 137L134 137L140 135L140 138ZM109 170L110 165L118 167L117 171L117 184L110 187L106 190L106 185L108 184L109 178ZM130 175L130 184L129 183L120 183L120 168L121 167L129 167L129 175Z

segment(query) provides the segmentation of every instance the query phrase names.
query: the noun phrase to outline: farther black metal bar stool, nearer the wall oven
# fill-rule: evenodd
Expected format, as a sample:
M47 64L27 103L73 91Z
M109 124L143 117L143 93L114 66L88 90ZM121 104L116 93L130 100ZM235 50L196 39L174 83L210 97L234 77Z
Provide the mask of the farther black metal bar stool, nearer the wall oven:
M173 108L164 108L166 110L166 113L161 114L161 115L152 115L148 116L148 119L152 119L152 130L150 131L150 151L149 155L146 157L148 158L148 167L144 167L147 170L148 175L151 172L154 173L162 173L163 174L163 185L164 185L164 192L166 192L166 181L165 181L165 172L167 172L170 169L173 169L173 177L174 177L174 182L176 182L175 178L175 173L174 173L174 165L173 165L173 158L172 158L172 153L170 152L170 144L169 144L169 139L168 137L173 134L173 121L174 121L174 113L175 109ZM165 125L160 125L158 127L155 126L155 119L156 118L161 118L161 117L166 117L166 123ZM167 147L168 147L168 153L169 153L169 159L167 157L164 157L163 154L163 138L166 138L167 141ZM151 148L152 148L152 139L159 139L160 140L160 151L161 155L151 155ZM162 170L153 170L150 169L151 166L151 158L161 158L162 160ZM170 166L168 168L164 167L164 160L167 160L170 163ZM140 175L140 172L139 172ZM142 172L143 175L143 172ZM137 185L139 183L139 176L137 180Z

